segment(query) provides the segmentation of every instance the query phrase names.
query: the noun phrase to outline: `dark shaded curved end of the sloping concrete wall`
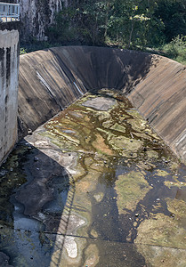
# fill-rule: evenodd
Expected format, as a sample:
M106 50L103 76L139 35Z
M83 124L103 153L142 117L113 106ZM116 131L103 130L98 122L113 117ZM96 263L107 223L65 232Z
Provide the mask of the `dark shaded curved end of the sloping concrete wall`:
M77 46L52 48L53 56L81 79L88 91L101 88L129 93L144 78L152 64L152 55L103 47Z

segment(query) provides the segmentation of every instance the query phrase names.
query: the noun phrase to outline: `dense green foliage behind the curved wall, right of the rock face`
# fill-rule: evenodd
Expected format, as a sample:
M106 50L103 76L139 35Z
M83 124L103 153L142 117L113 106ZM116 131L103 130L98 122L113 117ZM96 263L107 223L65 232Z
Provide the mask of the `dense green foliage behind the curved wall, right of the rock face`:
M47 35L49 44L153 48L177 59L186 49L186 0L72 1Z

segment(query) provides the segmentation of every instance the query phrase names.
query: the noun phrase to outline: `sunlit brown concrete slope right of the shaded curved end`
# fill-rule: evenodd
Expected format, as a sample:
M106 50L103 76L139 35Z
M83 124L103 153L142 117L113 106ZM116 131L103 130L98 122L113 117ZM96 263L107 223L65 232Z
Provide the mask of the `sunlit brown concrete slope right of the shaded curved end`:
M182 64L158 57L148 76L129 95L129 100L186 161L186 70Z

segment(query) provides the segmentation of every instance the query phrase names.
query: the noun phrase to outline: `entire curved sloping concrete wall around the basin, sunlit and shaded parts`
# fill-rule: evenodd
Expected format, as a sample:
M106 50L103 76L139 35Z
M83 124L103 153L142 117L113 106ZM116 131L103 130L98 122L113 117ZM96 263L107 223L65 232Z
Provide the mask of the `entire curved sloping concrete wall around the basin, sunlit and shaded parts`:
M26 135L85 92L113 88L186 162L186 70L158 55L66 46L20 56L19 132Z

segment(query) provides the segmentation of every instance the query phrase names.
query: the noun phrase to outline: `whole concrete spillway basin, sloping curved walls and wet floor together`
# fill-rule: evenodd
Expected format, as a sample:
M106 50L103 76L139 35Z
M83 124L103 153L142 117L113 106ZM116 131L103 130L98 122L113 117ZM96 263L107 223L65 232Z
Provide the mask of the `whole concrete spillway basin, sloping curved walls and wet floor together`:
M158 55L21 56L20 142L0 173L2 262L184 266L184 101L185 67Z

